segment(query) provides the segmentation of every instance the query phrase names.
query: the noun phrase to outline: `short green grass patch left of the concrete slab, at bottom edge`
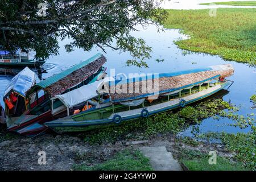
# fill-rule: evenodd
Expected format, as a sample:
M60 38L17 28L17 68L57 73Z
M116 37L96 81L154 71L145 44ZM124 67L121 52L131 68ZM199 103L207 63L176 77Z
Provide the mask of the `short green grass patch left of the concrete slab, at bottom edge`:
M95 166L86 166L86 164L76 165L75 170L86 170L86 171L151 171L152 168L149 164L149 159L142 155L138 150L130 151L124 150L118 152L109 159L101 164Z

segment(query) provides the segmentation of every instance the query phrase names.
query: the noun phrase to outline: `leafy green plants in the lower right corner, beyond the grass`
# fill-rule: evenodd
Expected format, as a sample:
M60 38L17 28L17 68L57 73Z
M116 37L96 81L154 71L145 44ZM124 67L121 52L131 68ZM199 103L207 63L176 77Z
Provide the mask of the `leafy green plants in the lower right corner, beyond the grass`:
M256 166L256 133L255 127L251 133L207 133L201 138L220 139L226 150L233 152L234 159L247 168L254 170Z

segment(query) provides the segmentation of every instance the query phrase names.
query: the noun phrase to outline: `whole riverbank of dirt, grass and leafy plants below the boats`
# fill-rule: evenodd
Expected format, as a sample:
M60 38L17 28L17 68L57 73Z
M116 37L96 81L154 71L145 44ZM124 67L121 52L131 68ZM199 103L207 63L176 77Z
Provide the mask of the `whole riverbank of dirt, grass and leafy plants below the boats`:
M228 102L217 99L89 133L47 134L36 138L10 133L1 135L0 170L150 170L148 159L138 152L141 146L164 146L175 159L193 170L253 169L256 164L254 120L232 113L236 110ZM234 126L251 126L252 132L237 135L212 133L195 139L178 135L189 124L200 123L207 117L229 117L236 121ZM210 142L212 138L218 142ZM134 140L146 142L134 144ZM45 165L38 164L40 151L46 152ZM209 151L217 151L220 157L218 167L205 164Z

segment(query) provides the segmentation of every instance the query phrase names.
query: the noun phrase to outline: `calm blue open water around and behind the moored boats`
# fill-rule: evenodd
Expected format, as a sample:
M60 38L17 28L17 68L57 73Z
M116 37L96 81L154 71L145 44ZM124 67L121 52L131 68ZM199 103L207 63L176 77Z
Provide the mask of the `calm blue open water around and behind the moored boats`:
M150 26L147 30L138 27L139 32L133 32L134 36L146 40L148 46L152 47L151 59L147 61L149 68L127 67L126 60L131 59L129 53L119 53L110 48L106 48L108 53L104 53L107 58L105 64L110 69L115 69L115 73L161 73L174 72L184 69L192 69L198 67L207 67L216 64L233 64L235 68L234 75L229 77L234 84L229 88L229 93L223 99L231 101L232 104L240 107L238 114L256 113L256 109L251 109L253 104L250 102L250 96L256 91L256 68L251 68L247 64L236 63L235 61L225 61L219 56L212 56L205 53L188 53L183 51L173 43L175 40L184 39L186 36L179 34L179 30L167 30L164 32L157 32L155 26ZM45 72L40 73L36 70L39 80L47 78L53 74L59 73L64 69L71 67L74 64L80 63L82 60L88 59L90 56L98 52L102 52L100 48L93 48L90 52L84 52L82 49L76 49L71 53L65 52L64 45L69 40L60 42L60 55L50 57L43 69ZM164 61L158 63L156 59L163 59ZM0 96L1 105L3 105L2 96L5 86L13 76L0 75ZM227 123L232 123L229 119L220 119L220 121L213 118L205 119L199 126L200 131L227 131L229 133L236 133L238 131L247 132L247 129L238 129L232 126L226 126ZM191 135L191 127L183 132L184 135Z

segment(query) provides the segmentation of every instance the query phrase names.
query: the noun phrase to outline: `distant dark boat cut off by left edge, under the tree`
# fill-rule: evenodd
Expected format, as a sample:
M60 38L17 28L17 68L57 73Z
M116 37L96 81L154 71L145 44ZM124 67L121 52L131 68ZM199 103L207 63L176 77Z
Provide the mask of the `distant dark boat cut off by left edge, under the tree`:
M46 63L44 60L30 60L28 52L19 49L14 54L9 51L0 51L0 67L40 67Z

